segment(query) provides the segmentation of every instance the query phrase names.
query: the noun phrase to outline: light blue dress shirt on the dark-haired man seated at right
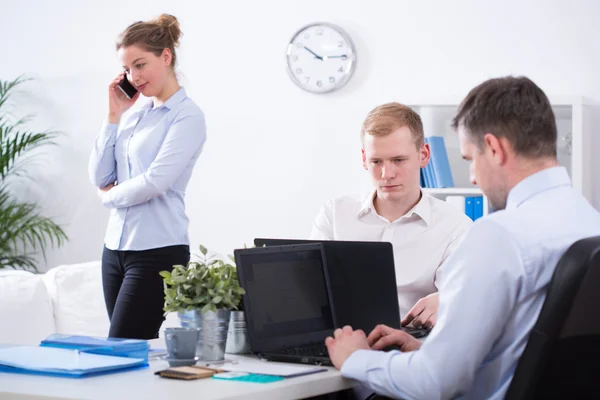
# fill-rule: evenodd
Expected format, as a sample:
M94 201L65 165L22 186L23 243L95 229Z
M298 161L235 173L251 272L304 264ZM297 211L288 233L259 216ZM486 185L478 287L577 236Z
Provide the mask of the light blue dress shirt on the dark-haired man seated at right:
M390 397L502 399L560 257L597 235L600 213L564 168L527 177L443 265L439 318L421 348L356 351L343 376Z

